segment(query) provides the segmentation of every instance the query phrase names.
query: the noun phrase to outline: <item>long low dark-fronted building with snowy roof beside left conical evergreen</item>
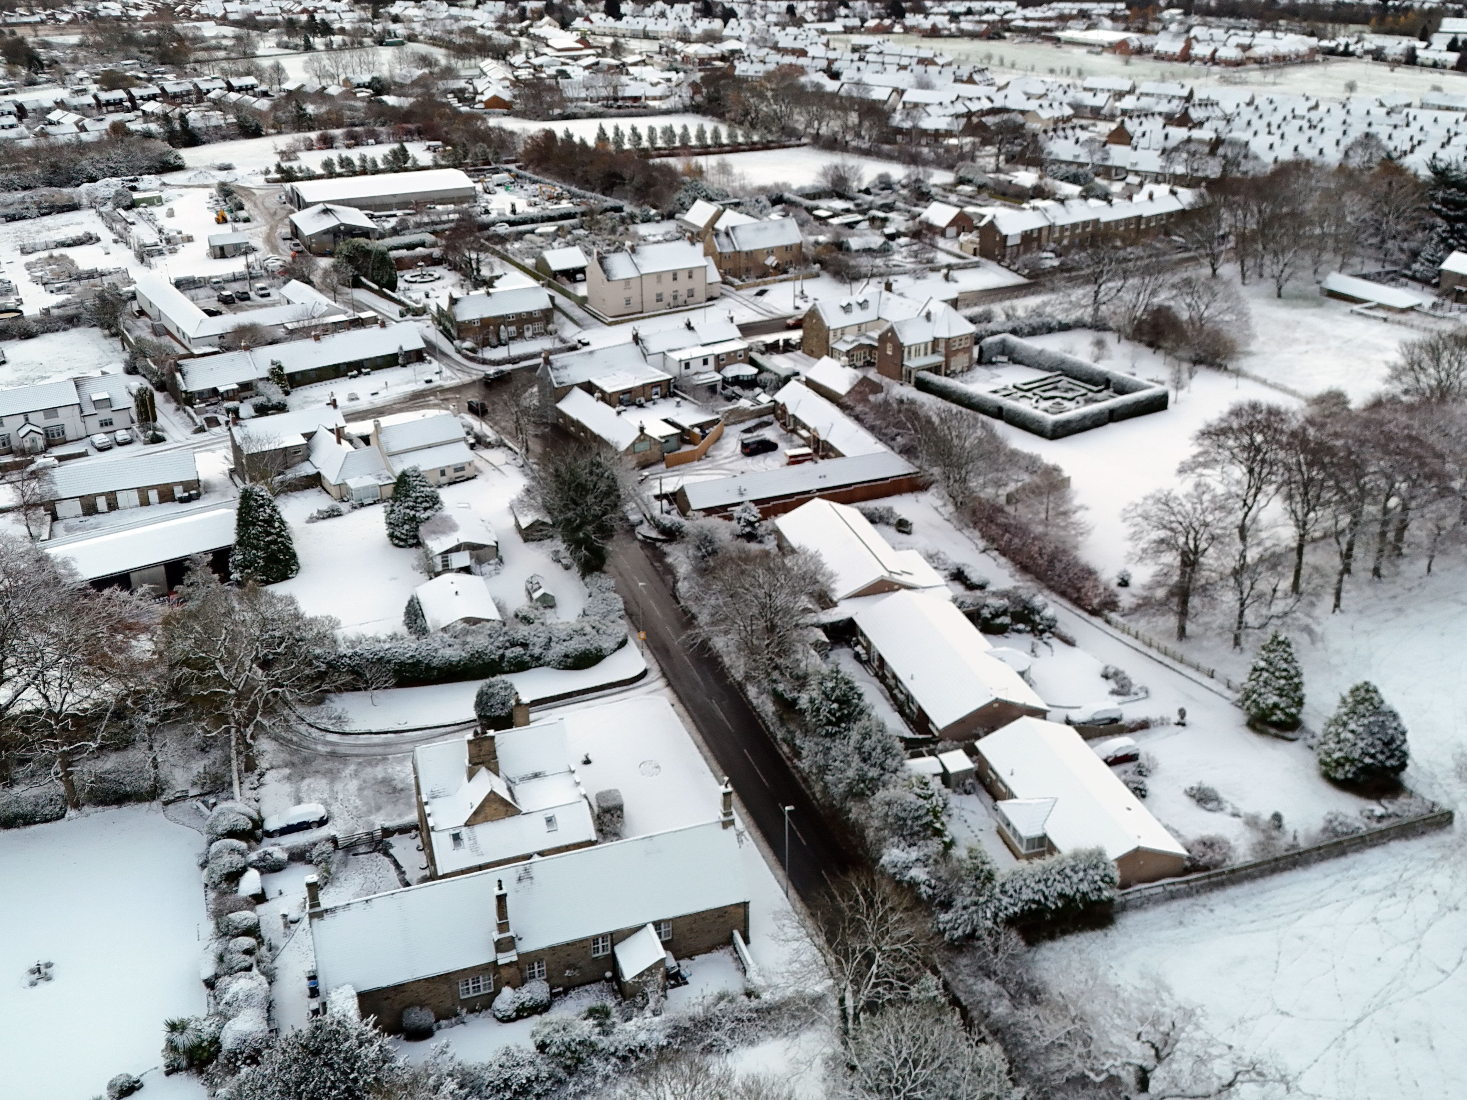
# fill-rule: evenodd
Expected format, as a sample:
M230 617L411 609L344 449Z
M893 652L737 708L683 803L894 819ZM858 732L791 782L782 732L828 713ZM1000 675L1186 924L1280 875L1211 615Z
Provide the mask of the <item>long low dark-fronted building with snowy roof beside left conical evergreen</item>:
M197 554L207 556L216 573L229 576L233 546L235 505L230 502L229 506L189 512L157 524L53 538L44 549L92 588L150 588L163 594L182 584Z

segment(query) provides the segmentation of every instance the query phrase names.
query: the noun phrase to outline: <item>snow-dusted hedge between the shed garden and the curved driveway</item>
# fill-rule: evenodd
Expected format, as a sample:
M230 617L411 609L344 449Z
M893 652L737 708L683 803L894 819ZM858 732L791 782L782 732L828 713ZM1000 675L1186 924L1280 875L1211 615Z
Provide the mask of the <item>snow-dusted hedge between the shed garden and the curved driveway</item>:
M365 675L386 669L399 688L489 679L530 669L590 669L626 644L626 610L609 576L585 578L590 595L575 622L522 607L506 622L450 628L425 638L365 638L329 663Z

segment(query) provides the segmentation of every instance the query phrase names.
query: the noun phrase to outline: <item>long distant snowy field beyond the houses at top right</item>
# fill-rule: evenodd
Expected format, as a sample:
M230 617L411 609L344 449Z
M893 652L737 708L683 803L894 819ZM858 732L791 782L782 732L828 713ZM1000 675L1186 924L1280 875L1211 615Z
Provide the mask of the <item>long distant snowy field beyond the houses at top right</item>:
M932 38L918 35L883 37L895 44L921 50L936 47L939 53L954 60L989 65L999 81L1017 73L1065 76L1068 69L1068 75L1074 81L1086 76L1119 76L1137 82L1178 81L1199 88L1244 85L1257 88L1260 92L1303 92L1335 98L1344 98L1350 94L1350 88L1345 85L1351 81L1358 85L1357 91L1363 95L1410 92L1419 97L1436 88L1460 94L1467 87L1457 73L1445 69L1380 65L1345 57L1326 57L1313 65L1245 65L1225 69L1162 62L1153 57L1090 53L1084 47L1046 43L981 41L977 38L945 38L933 43ZM832 45L848 41L849 37L845 35L830 37Z

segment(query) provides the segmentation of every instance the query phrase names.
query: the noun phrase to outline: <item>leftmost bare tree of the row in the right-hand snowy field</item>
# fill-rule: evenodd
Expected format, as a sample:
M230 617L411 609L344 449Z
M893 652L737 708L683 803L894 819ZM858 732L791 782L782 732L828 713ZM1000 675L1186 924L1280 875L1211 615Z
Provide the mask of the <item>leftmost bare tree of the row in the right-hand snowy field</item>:
M1141 559L1168 571L1166 593L1177 615L1177 641L1187 641L1193 593L1228 518L1225 496L1206 481L1194 481L1185 493L1156 490L1121 515Z

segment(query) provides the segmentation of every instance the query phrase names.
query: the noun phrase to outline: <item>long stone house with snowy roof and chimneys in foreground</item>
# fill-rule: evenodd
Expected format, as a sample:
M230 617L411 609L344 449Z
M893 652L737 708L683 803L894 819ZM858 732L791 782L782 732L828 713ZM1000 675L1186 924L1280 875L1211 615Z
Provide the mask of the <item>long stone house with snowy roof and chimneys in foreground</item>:
M351 986L361 1013L387 1031L411 1006L450 1019L525 981L601 981L615 947L647 924L676 958L717 950L735 931L748 936L738 832L722 820L330 908L308 879L307 898L323 993Z

